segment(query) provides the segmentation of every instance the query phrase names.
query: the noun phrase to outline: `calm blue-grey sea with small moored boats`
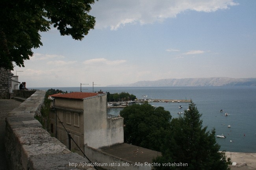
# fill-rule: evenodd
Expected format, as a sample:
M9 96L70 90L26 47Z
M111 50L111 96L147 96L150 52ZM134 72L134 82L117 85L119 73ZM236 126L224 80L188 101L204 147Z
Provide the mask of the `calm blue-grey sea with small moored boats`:
M33 88L48 90L50 88ZM63 91L81 91L81 87L55 87ZM202 114L203 127L215 135L221 146L220 151L256 153L256 86L221 86L221 87L94 87L83 92L104 91L110 93L127 92L137 99L192 100ZM183 116L177 114L187 110L190 102L150 102L162 106L173 118ZM182 105L182 108L179 106ZM119 115L123 108L108 108L108 114ZM220 112L223 110L223 112ZM228 113L229 116L225 116ZM230 128L228 128L230 125Z

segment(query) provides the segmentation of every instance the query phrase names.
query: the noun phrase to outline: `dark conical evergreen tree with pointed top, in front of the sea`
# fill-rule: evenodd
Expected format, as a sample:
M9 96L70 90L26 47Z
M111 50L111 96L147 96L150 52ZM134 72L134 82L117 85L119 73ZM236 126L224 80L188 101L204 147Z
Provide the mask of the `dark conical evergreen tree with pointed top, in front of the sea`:
M171 130L161 148L162 155L154 159L160 163L187 163L187 166L156 166L156 170L226 170L226 157L219 152L215 129L202 127L201 114L191 101L184 117L172 119Z

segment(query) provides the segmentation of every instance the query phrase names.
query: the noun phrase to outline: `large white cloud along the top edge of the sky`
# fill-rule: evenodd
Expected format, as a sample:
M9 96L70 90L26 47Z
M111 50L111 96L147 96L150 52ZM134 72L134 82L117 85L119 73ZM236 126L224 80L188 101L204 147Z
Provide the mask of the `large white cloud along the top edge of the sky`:
M175 18L187 10L214 12L238 5L234 0L104 0L92 5L95 28L116 30L126 24L152 24Z

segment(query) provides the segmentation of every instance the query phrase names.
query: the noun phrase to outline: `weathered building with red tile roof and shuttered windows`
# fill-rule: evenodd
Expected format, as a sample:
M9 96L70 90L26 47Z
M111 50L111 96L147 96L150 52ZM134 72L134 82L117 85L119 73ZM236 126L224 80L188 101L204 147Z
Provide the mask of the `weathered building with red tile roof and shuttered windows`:
M83 155L84 146L98 149L124 142L123 118L108 118L105 93L73 92L52 97L55 121L51 131L73 152Z

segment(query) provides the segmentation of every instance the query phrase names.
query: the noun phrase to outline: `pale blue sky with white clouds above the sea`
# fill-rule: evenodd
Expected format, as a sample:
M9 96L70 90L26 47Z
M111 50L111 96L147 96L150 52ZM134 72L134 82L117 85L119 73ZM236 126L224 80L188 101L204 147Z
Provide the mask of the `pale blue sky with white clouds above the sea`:
M82 41L52 27L24 68L30 87L183 78L256 78L255 0L99 0Z

